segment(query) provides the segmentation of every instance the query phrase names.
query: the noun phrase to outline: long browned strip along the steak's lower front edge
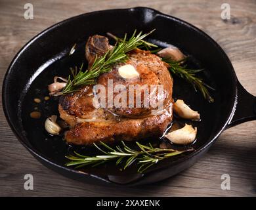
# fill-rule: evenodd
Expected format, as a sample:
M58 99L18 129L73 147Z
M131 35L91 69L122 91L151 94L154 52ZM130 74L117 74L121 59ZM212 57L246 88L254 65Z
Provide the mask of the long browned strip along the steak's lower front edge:
M112 123L84 122L78 123L66 133L67 142L80 145L131 141L144 138L159 138L172 119L173 107L169 106L164 114L140 119L123 119Z

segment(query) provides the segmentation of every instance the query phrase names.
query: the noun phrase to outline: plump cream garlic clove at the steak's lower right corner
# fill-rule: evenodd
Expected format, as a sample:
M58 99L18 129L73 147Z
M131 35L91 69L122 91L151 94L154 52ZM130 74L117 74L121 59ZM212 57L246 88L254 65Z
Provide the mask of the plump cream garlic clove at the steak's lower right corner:
M186 145L194 142L197 131L198 129L196 127L194 128L192 125L185 124L181 129L167 133L165 137L174 144Z

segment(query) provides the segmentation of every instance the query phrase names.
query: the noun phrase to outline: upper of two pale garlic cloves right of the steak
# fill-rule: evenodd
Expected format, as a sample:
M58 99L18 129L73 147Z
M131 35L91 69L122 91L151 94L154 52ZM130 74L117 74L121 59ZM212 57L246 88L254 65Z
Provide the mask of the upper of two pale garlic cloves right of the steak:
M178 99L173 104L173 110L175 114L184 119L200 120L200 114L197 111L190 109L190 107L184 103L184 100Z

